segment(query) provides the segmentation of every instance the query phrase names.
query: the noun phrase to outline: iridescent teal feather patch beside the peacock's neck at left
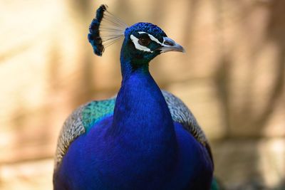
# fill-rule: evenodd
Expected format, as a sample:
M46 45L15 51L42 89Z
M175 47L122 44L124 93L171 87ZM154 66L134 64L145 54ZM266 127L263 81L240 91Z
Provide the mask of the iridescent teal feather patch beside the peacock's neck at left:
M109 100L90 102L82 112L82 122L86 129L89 130L104 117L113 115L115 107L115 98Z

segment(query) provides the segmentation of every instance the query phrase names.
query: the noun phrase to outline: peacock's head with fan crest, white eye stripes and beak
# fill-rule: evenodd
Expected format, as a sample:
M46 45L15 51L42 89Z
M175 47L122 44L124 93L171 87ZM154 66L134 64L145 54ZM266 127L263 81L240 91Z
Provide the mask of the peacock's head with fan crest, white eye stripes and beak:
M106 5L98 8L89 28L88 40L96 55L102 56L105 48L123 37L121 56L135 63L148 63L160 53L169 51L185 52L158 26L140 22L128 27L107 9Z

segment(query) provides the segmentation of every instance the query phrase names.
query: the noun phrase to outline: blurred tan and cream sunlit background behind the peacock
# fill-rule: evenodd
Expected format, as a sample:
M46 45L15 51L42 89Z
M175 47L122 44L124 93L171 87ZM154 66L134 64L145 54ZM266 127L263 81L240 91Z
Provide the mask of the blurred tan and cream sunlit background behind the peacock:
M197 117L225 189L285 189L283 0L1 0L0 189L52 189L63 121L118 92L122 41L99 58L87 40L100 4L185 47L150 70Z

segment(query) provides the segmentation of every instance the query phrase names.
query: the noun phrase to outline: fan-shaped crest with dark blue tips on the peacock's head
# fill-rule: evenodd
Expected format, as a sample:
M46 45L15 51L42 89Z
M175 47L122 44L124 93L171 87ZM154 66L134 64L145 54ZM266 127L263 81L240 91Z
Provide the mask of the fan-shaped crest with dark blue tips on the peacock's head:
M124 36L125 28L128 28L126 23L107 9L107 5L101 5L89 26L88 41L97 56L102 56L105 48L120 40Z

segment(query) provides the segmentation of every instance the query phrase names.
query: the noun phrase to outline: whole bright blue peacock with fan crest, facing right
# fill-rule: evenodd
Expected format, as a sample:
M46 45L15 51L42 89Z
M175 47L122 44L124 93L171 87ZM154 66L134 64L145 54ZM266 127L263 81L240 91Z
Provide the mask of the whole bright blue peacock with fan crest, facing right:
M78 107L58 137L53 188L217 189L212 153L187 106L160 90L150 60L185 52L152 23L128 26L101 5L89 27L97 56L123 38L118 95ZM211 187L212 186L212 187Z

